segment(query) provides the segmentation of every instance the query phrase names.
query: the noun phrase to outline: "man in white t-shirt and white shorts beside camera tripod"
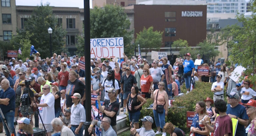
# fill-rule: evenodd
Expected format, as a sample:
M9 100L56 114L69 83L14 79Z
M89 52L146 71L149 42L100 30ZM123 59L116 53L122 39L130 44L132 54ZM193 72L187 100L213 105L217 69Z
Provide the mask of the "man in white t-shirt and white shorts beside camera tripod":
M55 118L54 113L54 96L52 93L50 93L50 86L45 84L43 86L43 92L44 94L42 95L40 99L40 104L37 104L39 114L41 115L42 121L44 123L46 132L48 136L51 136L51 131L52 131L52 125L51 121ZM34 107L36 107L36 104L33 104ZM40 123L42 124L42 121L39 120Z

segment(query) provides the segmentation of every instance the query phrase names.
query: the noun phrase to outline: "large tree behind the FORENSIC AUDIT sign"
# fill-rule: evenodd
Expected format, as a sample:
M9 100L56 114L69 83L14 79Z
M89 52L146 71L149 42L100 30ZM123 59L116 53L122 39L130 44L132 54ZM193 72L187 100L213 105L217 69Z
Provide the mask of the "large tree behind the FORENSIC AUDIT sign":
M127 31L130 21L124 8L117 5L105 5L103 8L95 6L90 9L90 38L124 38L124 52L131 56L131 40L133 31ZM84 54L84 33L78 36L77 54Z

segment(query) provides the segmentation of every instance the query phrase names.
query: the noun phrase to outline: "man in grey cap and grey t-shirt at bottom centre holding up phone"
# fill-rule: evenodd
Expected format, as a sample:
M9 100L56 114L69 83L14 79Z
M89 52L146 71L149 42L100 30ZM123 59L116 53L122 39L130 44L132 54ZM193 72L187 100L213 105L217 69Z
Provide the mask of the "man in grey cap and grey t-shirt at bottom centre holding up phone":
M155 132L152 129L152 124L154 123L153 118L150 116L145 116L142 121L142 127L139 129L135 129L135 124L133 124L133 128L130 129L131 135L134 136L154 136Z

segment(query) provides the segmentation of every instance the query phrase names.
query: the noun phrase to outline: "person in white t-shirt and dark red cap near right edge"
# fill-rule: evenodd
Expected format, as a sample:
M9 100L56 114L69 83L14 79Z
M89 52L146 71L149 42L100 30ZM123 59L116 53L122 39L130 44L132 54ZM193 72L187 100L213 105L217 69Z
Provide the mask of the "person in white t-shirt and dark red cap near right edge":
M252 90L252 88L250 88L250 84L251 82L249 80L245 80L244 81L244 87L241 90L241 102L242 103L248 103L249 100L253 97L256 96L256 92Z

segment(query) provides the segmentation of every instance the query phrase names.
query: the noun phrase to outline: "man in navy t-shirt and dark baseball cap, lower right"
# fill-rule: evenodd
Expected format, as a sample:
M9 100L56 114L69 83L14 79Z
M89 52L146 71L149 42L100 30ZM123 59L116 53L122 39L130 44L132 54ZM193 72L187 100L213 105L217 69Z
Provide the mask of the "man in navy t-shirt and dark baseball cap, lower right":
M228 96L227 114L230 118L235 118L238 120L236 128L236 136L245 135L245 126L248 124L248 115L246 114L246 109L243 105L239 104L239 95L237 92L232 92L226 94Z

